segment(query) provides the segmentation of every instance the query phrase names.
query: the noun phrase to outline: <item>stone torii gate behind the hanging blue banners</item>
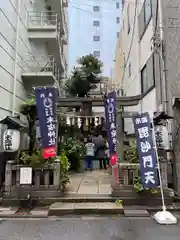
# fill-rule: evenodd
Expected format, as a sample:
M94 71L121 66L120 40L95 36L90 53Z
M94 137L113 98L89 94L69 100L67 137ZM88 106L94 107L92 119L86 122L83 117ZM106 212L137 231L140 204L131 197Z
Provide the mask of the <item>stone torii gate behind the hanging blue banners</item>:
M116 98L117 105L117 153L121 161L124 160L124 132L123 132L123 119L132 118L135 112L124 112L123 107L136 106L139 104L140 100L143 98L143 94L136 96L124 96ZM58 100L57 108L60 107L71 107L80 108L81 115L92 116L92 107L102 107L104 106L104 96L100 97L60 97Z

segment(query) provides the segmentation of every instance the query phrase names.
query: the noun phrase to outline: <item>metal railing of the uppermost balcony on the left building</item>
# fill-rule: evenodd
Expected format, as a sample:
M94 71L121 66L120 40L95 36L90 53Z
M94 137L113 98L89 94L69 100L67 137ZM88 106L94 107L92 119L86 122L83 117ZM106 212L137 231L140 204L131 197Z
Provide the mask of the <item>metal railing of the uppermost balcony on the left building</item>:
M36 12L29 11L27 13L27 25L28 27L47 27L56 26L58 28L58 15L56 12Z

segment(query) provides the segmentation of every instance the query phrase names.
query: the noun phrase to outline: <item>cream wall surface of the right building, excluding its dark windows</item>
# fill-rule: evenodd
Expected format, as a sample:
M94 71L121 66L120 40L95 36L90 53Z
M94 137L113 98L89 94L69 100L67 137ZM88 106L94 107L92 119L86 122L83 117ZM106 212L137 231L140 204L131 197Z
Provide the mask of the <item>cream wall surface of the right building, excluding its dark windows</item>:
M124 74L119 81L123 86L124 95L134 96L141 94L141 70L147 63L148 59L152 55L152 37L153 37L153 17L151 18L147 28L144 31L143 36L140 39L139 34L139 15L143 6L143 1L137 3L124 4L123 9L123 24L121 29L121 41L120 46L124 53L125 62L122 68ZM135 12L135 7L136 12ZM129 8L129 23L130 32L128 34L128 8ZM135 28L133 33L134 16ZM128 59L128 60L127 60ZM131 71L129 71L129 64L131 65ZM130 73L131 72L131 73ZM124 77L123 77L124 75ZM149 111L150 113L156 111L156 90L152 88L147 91L144 98L139 105L133 107L126 107L124 111L144 112ZM128 134L134 132L132 126L132 119L125 119L125 131Z

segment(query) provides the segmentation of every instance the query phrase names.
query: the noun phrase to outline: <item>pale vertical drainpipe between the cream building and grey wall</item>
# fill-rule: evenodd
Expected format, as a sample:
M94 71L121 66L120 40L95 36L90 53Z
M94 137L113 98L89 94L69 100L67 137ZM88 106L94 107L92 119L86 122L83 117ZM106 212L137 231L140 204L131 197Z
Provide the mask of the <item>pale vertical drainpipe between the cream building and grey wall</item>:
M162 80L163 80L163 95L164 95L164 111L168 113L168 98L167 98L167 79L166 79L166 63L164 55L164 26L163 26L163 13L162 13L162 0L158 0L159 4L159 28L160 28L160 40L161 40L161 49L160 57L162 62Z

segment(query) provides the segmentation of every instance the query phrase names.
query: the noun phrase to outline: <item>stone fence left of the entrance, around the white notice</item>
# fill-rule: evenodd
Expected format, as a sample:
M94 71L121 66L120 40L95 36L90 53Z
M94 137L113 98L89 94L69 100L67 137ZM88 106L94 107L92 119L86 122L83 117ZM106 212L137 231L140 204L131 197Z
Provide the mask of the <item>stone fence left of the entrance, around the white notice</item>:
M52 198L61 195L60 163L32 168L32 184L20 185L20 168L14 161L6 163L4 195L11 198Z

